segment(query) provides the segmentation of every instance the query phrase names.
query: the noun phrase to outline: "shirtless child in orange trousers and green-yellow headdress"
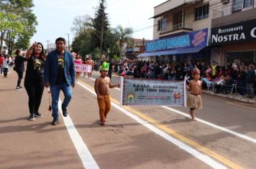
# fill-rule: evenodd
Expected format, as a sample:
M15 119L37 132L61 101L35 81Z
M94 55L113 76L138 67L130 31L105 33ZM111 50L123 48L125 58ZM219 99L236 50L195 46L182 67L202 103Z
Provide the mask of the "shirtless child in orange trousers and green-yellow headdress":
M120 87L120 84L111 84L109 77L107 77L109 72L109 63L104 62L99 71L101 75L95 80L94 90L96 92L99 105L100 125L105 125L106 115L108 115L111 108L109 88Z

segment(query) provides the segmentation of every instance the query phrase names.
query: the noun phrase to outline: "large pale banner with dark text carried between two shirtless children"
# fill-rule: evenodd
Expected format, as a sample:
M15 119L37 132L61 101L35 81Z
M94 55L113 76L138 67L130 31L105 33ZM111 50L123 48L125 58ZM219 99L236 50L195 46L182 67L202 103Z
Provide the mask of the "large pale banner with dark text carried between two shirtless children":
M168 105L186 107L184 81L121 77L122 105Z

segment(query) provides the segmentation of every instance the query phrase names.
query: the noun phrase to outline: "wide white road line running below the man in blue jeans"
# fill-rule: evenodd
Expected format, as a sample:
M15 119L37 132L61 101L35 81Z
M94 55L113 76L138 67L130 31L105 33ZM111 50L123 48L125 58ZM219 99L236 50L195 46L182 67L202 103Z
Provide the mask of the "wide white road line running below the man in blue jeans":
M61 100L59 100L58 108L60 114L62 115L63 111L61 110L61 104L62 102ZM93 155L91 155L90 151L88 150L86 143L83 142L83 139L79 135L78 130L76 130L76 127L73 124L73 121L71 120L70 116L68 115L67 117L63 117L63 121L65 127L67 127L68 134L70 135L70 138L73 141L73 144L75 145L76 151L79 157L81 158L83 167L86 169L99 169L99 166L94 160Z

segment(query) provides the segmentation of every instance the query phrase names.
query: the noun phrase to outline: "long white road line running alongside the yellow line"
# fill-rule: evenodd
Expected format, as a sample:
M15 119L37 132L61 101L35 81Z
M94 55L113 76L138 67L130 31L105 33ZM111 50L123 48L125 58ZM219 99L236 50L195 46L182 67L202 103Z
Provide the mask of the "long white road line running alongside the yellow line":
M81 84L81 82L78 82L78 84L83 87L84 89L88 90L88 92L91 92L93 95L96 95L96 93L86 87L84 84ZM199 153L197 150L191 148L190 146L182 143L180 140L175 139L174 137L171 137L168 135L168 133L163 132L162 130L158 129L154 125L151 125L149 122L142 120L140 117L137 117L137 115L132 114L131 112L125 110L124 108L120 107L119 105L116 105L114 102L111 102L111 105L113 105L116 109L120 110L121 112L124 112L125 115L132 117L132 119L139 122L141 125L144 125L148 129L155 132L155 134L160 135L161 137L165 138L166 140L170 141L174 145L177 145L179 148L185 150L186 152L190 153L194 157L198 158L198 160L203 161L207 165L211 166L212 168L227 168L224 165L221 165L221 163L218 163L216 160L210 158L208 155L204 155L202 153Z

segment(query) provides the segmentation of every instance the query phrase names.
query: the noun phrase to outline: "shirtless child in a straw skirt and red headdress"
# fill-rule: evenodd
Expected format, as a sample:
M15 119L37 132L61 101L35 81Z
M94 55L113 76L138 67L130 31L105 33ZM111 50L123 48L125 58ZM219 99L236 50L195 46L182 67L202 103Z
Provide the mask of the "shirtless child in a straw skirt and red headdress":
M191 90L188 95L187 105L190 108L191 120L196 120L193 114L194 110L202 109L202 99L201 99L201 86L202 82L200 79L200 71L198 68L194 68L192 72L193 79L188 84L188 90Z

